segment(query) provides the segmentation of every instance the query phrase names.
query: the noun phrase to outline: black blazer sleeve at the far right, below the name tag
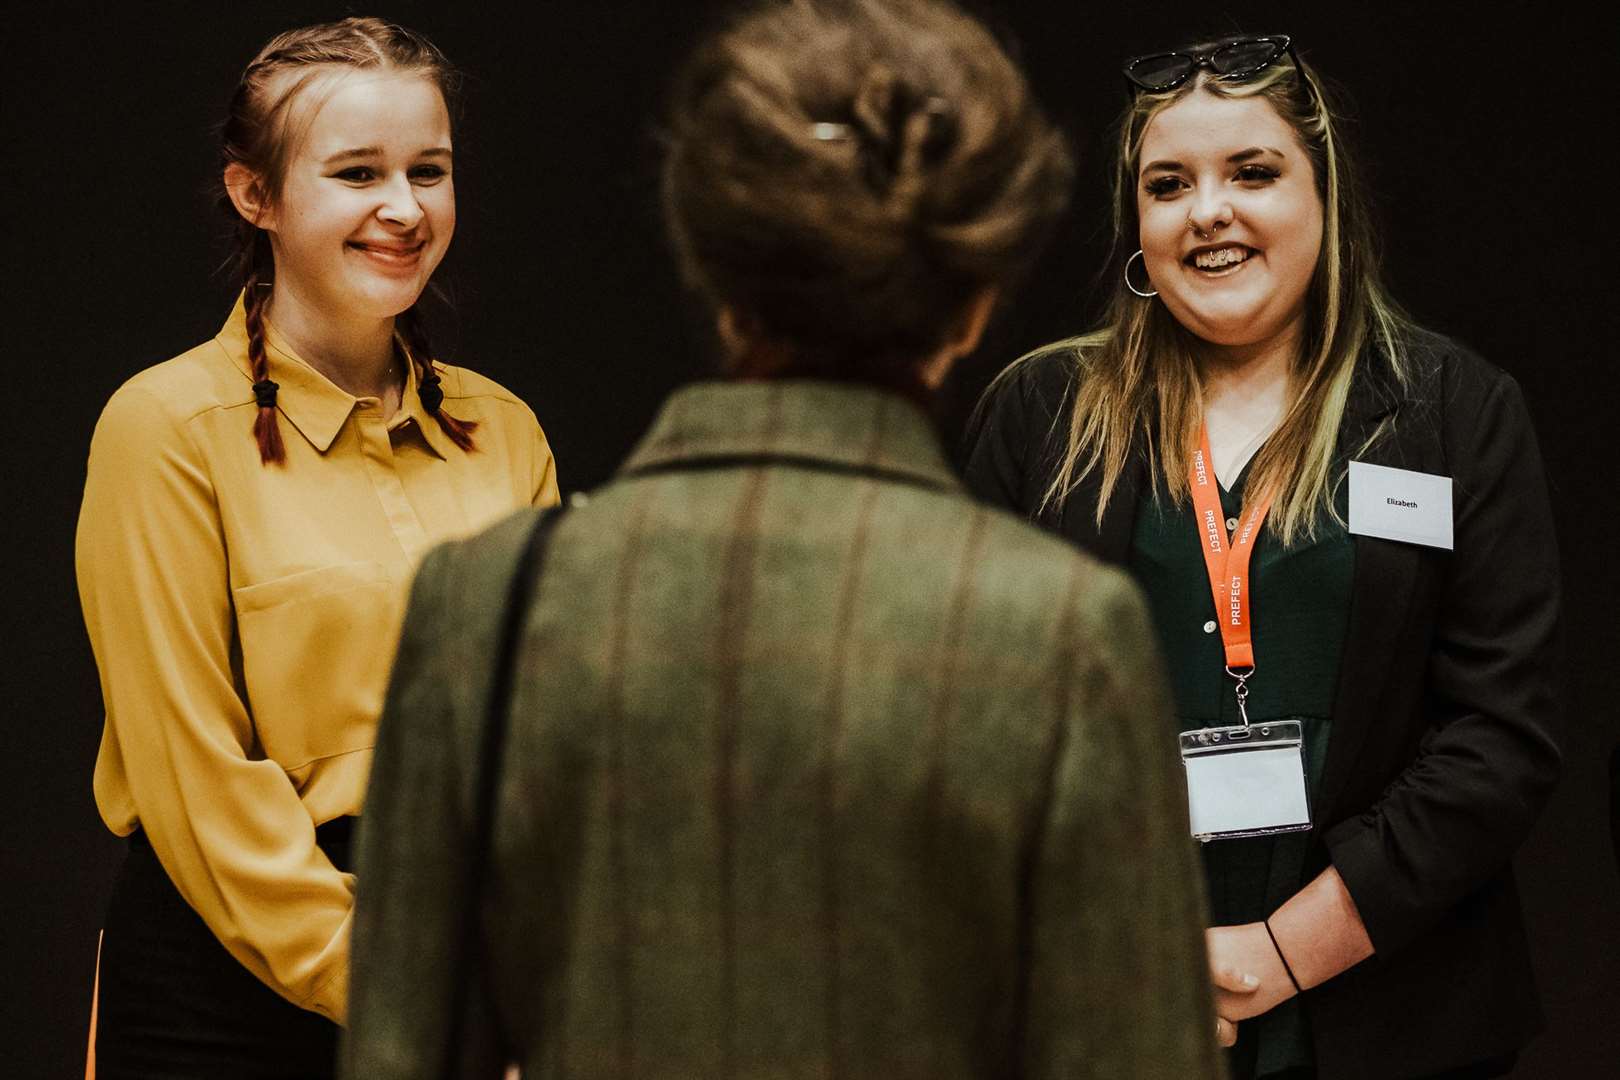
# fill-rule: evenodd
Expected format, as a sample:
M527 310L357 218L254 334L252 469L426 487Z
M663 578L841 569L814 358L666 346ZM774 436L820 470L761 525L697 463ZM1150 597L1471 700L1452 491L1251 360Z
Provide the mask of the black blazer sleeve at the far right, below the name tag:
M1558 559L1518 384L1482 361L1443 382L1453 554L1427 669L1429 727L1383 797L1325 836L1379 952L1502 873L1558 776Z

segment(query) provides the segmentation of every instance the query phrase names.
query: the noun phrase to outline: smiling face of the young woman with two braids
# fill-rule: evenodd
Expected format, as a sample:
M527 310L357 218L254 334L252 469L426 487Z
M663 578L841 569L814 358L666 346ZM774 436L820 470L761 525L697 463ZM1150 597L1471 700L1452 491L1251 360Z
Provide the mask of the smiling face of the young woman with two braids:
M347 71L292 102L298 142L271 233L277 288L337 317L387 319L428 287L455 232L450 113L431 78Z

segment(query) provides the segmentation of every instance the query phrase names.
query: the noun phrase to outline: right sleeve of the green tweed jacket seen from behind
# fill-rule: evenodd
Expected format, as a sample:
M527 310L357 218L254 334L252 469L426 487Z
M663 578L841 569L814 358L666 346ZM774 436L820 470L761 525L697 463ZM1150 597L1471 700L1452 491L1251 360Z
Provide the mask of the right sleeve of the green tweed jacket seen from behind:
M1085 581L1048 683L1058 722L1029 879L1025 1074L1217 1080L1202 878L1158 649L1121 573Z

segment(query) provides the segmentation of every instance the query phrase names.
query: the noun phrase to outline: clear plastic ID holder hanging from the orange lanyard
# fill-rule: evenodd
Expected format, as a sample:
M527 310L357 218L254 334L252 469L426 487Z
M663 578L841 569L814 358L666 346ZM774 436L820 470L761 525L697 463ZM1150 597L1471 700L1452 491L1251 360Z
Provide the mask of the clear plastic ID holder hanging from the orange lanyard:
M1181 732L1181 764L1196 840L1311 827L1299 721Z

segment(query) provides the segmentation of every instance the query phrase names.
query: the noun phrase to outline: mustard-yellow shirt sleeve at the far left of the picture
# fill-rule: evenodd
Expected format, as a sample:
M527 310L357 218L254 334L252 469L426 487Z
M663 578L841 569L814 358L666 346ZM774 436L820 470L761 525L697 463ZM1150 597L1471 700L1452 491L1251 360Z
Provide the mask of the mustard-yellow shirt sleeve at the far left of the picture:
M219 515L188 418L159 393L118 390L91 442L76 541L107 708L97 797L122 772L164 870L225 949L342 1020L353 878L316 845L282 766L256 753Z

